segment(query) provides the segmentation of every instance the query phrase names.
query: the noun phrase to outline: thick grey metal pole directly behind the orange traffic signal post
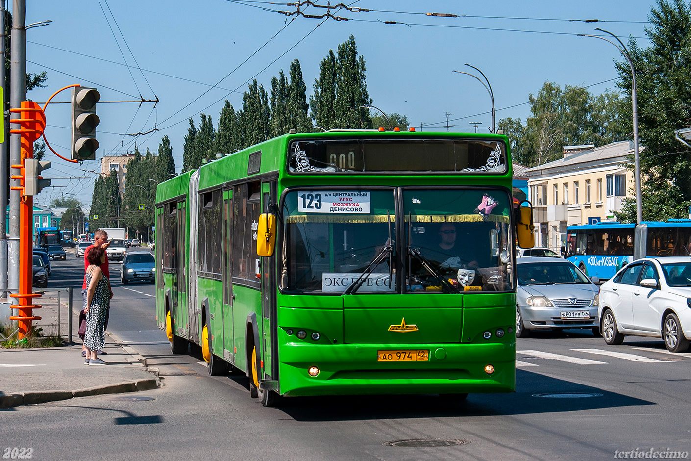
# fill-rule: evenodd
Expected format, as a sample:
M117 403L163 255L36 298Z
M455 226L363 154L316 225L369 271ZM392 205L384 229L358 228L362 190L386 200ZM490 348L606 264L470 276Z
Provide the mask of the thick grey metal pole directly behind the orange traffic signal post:
M10 107L19 109L26 100L26 0L12 0L10 48ZM10 163L21 163L21 135L10 135ZM19 187L17 179L10 186ZM19 203L21 192L10 190L10 238L8 241L8 288L19 288ZM33 226L33 223L29 223ZM16 303L16 301L15 301Z

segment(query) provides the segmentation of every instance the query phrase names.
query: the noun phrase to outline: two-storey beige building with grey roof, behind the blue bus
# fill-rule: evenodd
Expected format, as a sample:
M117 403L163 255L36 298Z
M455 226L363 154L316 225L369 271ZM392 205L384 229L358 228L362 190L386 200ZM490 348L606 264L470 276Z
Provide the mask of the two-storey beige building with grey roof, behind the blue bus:
M565 146L563 158L528 169L536 246L558 251L567 226L614 221L623 199L633 196L634 174L625 166L632 154L629 141Z

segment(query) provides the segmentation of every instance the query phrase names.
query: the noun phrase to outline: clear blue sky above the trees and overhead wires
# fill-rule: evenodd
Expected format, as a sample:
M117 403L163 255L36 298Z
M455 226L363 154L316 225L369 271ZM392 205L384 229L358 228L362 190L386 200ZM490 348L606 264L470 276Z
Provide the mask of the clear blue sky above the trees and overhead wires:
M12 1L7 3L11 10ZM101 147L97 159L132 151L135 142L142 153L146 147L156 151L161 137L168 135L178 171L182 167L182 144L189 117L198 124L198 114L207 113L215 124L226 99L236 109L241 108L248 80L256 78L268 91L271 78L281 69L287 73L293 59L300 60L309 96L321 59L350 34L357 41L359 54L366 59L368 91L375 106L387 113L408 115L411 124L419 127L424 123L434 126L435 131L446 130L443 125L447 112L453 114L449 115L453 120L449 123L454 125L451 131L474 131L471 122L482 122L478 131L486 131L490 126L489 114L476 114L491 108L489 94L480 82L452 73L453 69L472 71L463 66L466 62L480 68L493 88L497 120L502 117L525 120L529 106L515 105L527 102L529 93L537 93L547 80L560 86L588 86L617 76L613 59L622 59L618 50L605 41L575 34L597 33L594 28L600 27L624 41L629 35L641 37L638 44L647 46L649 41L643 38L645 21L653 6L650 0L474 3L359 0L348 4L377 11L341 10L334 14L352 20L324 21L267 11L295 10L285 3L283 6L227 0L31 0L27 3L27 24L53 20L50 26L28 30L27 70L48 73L48 88L32 91L28 97L44 102L62 86L77 83L99 88L102 101L158 96L160 102L155 109L153 104L98 106L101 124L97 139ZM305 13L321 15L325 11L307 8ZM399 12L448 12L466 17ZM245 59L247 62L240 65ZM218 85L211 88L214 84ZM589 91L601 93L614 85L615 82L609 81L592 86ZM55 100L69 98L69 91L64 91ZM509 106L515 107L500 110ZM46 116L48 141L68 157L68 104L49 106ZM154 126L161 131L129 135L149 131ZM79 166L59 160L53 153L47 157L53 161L53 169L46 177L71 179L53 179L53 185L66 187L44 189L37 197L41 199L38 203L48 205L53 198L70 194L82 203L91 203L93 180L100 171L100 162Z

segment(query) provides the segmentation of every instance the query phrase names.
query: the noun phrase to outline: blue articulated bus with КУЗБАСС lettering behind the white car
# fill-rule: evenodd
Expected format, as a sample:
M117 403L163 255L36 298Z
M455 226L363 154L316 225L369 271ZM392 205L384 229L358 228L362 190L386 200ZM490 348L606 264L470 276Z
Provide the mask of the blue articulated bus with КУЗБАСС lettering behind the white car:
M691 220L567 227L566 257L588 276L611 279L621 267L647 256L691 256Z

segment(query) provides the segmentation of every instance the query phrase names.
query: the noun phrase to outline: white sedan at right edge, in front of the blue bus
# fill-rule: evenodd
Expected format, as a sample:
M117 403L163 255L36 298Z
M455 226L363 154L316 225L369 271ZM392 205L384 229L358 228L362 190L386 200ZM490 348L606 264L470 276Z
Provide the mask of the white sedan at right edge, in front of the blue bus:
M600 287L598 317L605 343L627 335L662 338L670 352L685 352L691 339L691 259L633 261Z

